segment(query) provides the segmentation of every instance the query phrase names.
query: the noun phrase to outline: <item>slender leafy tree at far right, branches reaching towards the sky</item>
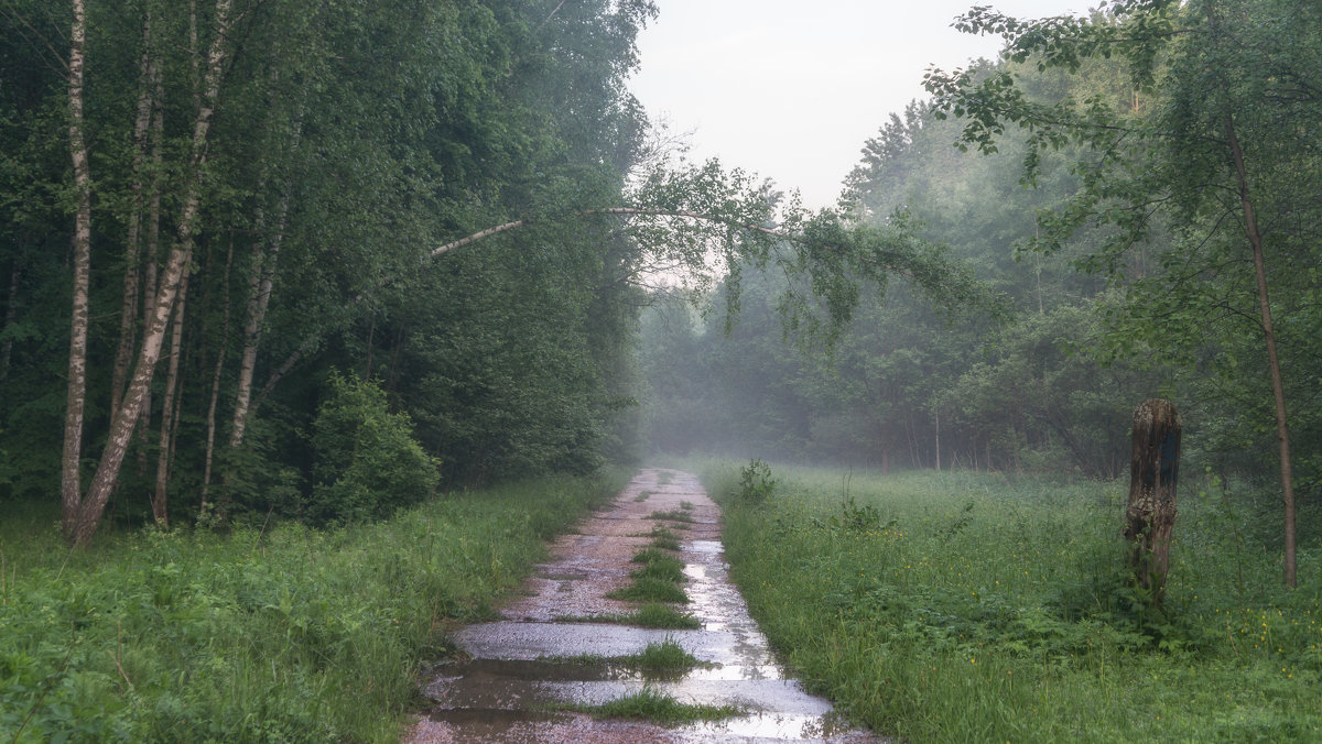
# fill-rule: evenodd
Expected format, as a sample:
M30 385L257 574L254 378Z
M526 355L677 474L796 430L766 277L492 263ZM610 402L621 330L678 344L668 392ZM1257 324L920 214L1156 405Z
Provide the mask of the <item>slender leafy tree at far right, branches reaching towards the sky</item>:
M1322 100L1310 82L1317 62L1297 49L1317 42L1322 15L1313 4L1293 0L1187 5L1121 0L1091 19L1021 21L974 8L958 25L1005 36L1010 59L1040 70L1073 73L1089 59L1120 59L1134 89L1155 98L1150 107L1129 108L1096 95L1032 99L1009 71L978 77L935 70L927 83L940 111L965 118L964 145L994 151L1007 124L1023 128L1030 181L1042 152L1084 148L1075 165L1081 188L1063 209L1044 215L1038 247L1050 251L1084 226L1108 235L1081 263L1130 287L1134 301L1124 313L1129 320L1118 326L1122 333L1113 337L1117 352L1138 342L1188 363L1208 342L1233 346L1240 321L1256 317L1265 352L1259 369L1269 381L1278 444L1284 574L1293 587L1294 477L1286 406L1292 382L1278 353L1280 312L1268 289L1280 281L1282 289L1303 289L1317 279L1301 281L1273 271L1268 252L1282 262L1318 260L1298 214L1317 214L1315 189L1307 181L1319 164L1309 132L1322 120ZM1167 221L1177 241L1161 256L1163 271L1125 276L1122 256L1150 246ZM1264 223L1273 230L1264 231ZM1239 293L1245 279L1252 308ZM1289 322L1310 320L1313 311L1296 309ZM1208 330L1215 336L1208 338ZM1292 340L1300 345L1294 353L1311 353L1310 341ZM1251 377L1236 381L1251 382Z

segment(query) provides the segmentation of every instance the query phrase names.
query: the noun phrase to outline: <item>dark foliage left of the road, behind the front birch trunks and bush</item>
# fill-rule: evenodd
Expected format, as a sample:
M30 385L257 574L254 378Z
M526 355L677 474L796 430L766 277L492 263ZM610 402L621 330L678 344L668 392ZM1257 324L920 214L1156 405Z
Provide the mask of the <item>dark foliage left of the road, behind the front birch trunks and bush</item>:
M188 301L177 303L177 426L159 452L175 423L161 422L161 365L140 424L151 431L126 459L144 465L123 470L108 513L140 519L144 490L169 490L188 494L171 502L176 522L204 501L260 521L323 502L313 488L338 488L330 498L354 513L317 519L374 513L353 482L313 472L328 464L313 463L305 433L334 395L330 369L379 379L451 484L628 459L637 256L613 223L543 225L460 262L431 262L428 251L512 214L617 201L644 156L645 116L624 82L656 8L235 0L233 9L238 21L221 41L235 54L189 225ZM190 16L156 0L89 8L89 466L120 385L116 349L141 344L159 235L180 222L178 193L193 182L196 54L217 36L213 11L202 3ZM58 473L70 328L59 246L73 230L67 81L57 73L66 16L21 0L0 19L4 502L49 493ZM157 459L163 486L145 465Z

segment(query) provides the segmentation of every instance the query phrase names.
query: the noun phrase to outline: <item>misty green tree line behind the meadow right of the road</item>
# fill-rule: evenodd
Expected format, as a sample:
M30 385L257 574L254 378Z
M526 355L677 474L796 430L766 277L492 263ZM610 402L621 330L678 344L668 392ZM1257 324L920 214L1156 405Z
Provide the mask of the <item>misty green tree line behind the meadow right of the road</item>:
M1322 485L1322 11L1122 0L957 25L1002 36L1001 59L929 70L846 200L947 246L1009 311L952 320L900 283L826 359L783 338L796 279L746 279L728 338L720 312L646 318L650 440L1116 477L1133 406L1163 395L1191 424L1186 472L1274 494L1293 585L1296 509Z

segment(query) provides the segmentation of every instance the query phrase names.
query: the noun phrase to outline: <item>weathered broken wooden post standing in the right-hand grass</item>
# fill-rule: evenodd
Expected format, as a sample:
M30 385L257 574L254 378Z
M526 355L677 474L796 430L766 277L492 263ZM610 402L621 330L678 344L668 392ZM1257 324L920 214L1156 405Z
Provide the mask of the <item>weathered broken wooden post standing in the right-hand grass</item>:
M1151 593L1154 607L1161 607L1170 571L1182 426L1170 400L1154 398L1134 408L1125 538L1133 543L1129 558L1133 580Z

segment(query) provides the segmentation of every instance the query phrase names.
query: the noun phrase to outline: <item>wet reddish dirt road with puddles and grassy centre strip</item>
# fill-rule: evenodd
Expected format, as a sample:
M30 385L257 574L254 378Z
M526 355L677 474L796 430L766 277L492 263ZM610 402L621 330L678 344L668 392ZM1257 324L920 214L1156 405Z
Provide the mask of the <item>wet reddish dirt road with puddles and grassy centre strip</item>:
M654 518L658 511L685 513L691 522ZM457 634L471 661L432 671L424 692L434 707L406 741L878 741L843 725L830 703L804 692L776 663L728 580L719 518L697 477L660 469L639 473L608 509L555 543L551 562L539 566L526 596L504 609L505 620ZM639 567L631 559L652 540L648 533L656 526L680 538L690 599L682 609L702 628L657 630L566 620L636 609L636 603L605 595L629 583L629 572ZM582 654L621 657L665 640L709 666L656 677L612 663L564 661ZM744 715L666 728L547 710L563 702L599 704L644 688L683 703L732 704Z

